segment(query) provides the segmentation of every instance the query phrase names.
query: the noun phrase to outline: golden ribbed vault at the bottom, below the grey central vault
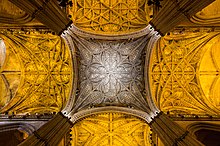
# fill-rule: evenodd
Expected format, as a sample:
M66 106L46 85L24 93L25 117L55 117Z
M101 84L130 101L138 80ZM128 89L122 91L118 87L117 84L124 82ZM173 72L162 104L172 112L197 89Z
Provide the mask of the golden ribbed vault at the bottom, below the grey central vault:
M149 146L150 127L122 113L91 115L72 128L72 146Z

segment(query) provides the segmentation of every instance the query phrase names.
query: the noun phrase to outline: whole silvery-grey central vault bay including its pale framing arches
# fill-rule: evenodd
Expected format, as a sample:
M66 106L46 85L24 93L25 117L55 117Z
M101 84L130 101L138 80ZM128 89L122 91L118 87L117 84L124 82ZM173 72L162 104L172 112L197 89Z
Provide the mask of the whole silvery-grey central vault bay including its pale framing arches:
M78 60L75 85L79 93L73 95L74 103L67 104L63 111L73 117L91 108L98 112L100 107L112 110L116 108L111 107L117 107L120 111L138 110L142 117L143 112L151 115L145 94L144 66L145 49L153 35L150 26L127 35L97 36L72 25L63 37L73 48L73 58Z

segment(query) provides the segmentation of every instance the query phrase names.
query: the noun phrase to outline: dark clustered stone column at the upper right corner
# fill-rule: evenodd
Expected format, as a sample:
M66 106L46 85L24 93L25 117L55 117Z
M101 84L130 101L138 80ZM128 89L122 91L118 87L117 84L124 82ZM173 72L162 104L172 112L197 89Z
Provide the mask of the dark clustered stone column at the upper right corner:
M163 36L215 0L167 0L150 24Z

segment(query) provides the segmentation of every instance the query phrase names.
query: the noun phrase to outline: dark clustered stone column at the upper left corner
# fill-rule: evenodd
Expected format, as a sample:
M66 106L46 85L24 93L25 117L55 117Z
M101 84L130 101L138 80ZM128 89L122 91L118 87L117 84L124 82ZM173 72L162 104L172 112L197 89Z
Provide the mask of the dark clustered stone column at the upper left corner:
M9 0L32 18L48 26L51 30L60 35L67 29L72 21L60 8L56 0Z

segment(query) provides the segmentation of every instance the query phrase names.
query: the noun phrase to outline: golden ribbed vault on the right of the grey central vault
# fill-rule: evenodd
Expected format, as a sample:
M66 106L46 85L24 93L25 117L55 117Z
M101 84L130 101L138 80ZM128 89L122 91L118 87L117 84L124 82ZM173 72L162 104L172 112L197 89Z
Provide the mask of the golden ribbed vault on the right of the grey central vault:
M218 114L219 33L165 36L151 57L151 92L162 111Z

